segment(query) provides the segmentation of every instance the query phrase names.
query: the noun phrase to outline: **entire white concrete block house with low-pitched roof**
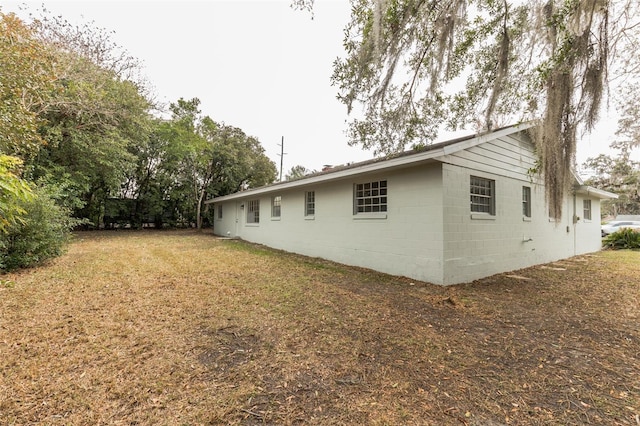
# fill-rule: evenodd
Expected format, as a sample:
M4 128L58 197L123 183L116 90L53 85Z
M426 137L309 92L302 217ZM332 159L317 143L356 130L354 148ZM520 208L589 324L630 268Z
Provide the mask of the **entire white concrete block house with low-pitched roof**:
M599 250L615 195L576 178L550 219L528 127L208 200L214 233L444 285Z

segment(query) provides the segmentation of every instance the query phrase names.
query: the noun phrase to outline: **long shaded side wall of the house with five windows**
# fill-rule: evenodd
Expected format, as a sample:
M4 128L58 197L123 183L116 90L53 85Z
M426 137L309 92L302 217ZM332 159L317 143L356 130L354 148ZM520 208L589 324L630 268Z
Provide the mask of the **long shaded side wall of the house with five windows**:
M353 214L354 184L379 180L387 181L386 214ZM307 191L315 192L313 217L305 217ZM281 196L279 219L271 217L271 198L277 195ZM216 210L214 232L389 274L443 281L440 163L282 192L274 189L259 197L258 225L246 223L250 199L224 202L221 220ZM244 209L239 208L241 204Z

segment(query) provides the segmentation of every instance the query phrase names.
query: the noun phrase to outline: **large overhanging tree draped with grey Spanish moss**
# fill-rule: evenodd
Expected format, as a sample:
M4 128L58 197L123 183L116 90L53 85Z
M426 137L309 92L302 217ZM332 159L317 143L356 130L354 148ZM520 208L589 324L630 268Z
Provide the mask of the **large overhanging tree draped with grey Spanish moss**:
M312 8L313 0L294 6ZM610 79L637 73L634 0L352 0L332 82L351 145L388 154L443 129L534 121L555 217L576 142L598 122Z

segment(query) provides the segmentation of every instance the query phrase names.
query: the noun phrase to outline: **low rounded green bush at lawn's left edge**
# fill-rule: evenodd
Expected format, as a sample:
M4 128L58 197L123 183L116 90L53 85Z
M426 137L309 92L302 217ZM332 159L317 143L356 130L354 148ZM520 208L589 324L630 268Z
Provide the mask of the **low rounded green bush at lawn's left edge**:
M75 221L56 203L51 189L36 188L35 197L23 200L26 212L0 233L0 271L35 266L59 256L70 239Z

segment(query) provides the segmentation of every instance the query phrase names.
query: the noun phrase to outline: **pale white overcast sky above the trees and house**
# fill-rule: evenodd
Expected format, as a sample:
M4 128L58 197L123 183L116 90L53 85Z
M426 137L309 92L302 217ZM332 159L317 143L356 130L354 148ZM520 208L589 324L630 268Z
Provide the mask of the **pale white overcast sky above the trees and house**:
M285 174L372 157L347 145L346 107L330 83L343 56L347 0L316 0L313 19L289 0L4 1L2 10L27 16L21 5L114 31L143 62L159 100L199 98L203 114L258 138L278 167L284 137ZM607 151L615 124L605 116L601 131L580 143L579 163Z

